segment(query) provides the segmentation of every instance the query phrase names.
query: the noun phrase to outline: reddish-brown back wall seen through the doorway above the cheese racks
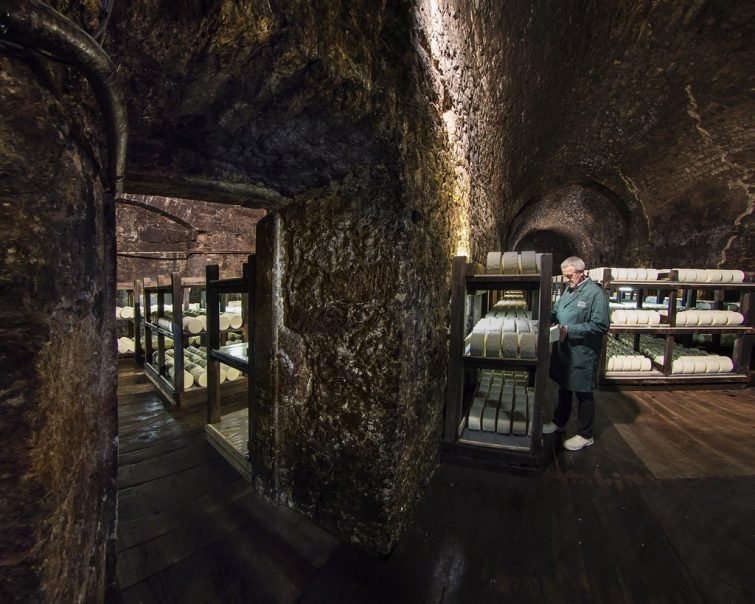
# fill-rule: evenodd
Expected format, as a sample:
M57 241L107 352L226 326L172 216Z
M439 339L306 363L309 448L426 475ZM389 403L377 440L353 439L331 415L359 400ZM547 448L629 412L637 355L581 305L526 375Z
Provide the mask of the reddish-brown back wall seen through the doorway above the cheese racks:
M221 277L240 276L264 214L229 204L125 194L116 204L118 281L172 272L204 277L208 264L217 264Z

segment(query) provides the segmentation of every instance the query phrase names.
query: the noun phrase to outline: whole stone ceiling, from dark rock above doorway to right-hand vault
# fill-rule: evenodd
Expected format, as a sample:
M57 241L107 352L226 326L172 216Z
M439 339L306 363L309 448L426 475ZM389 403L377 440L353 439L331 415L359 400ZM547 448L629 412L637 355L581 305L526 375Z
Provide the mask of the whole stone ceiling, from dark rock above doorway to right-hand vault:
M97 2L53 4L97 22ZM752 266L754 15L726 0L116 1L103 45L127 93L126 190L281 207L393 170L395 117L416 104L445 122L473 242L494 222L507 244L524 206L575 185L624 205L627 262ZM401 95L418 55L435 98Z

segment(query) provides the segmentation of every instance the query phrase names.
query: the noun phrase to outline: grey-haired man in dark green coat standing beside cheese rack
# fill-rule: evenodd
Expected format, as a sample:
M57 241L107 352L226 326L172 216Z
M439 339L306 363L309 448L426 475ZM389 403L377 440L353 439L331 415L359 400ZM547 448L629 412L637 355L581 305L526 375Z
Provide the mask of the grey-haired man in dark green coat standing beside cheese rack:
M564 442L569 451L579 451L595 441L593 389L603 338L608 332L608 298L603 289L585 275L585 263L572 256L561 263L567 289L554 304L551 322L558 323L559 341L551 354L550 376L559 386L558 405L553 422L543 426L543 434L563 432L569 421L572 395L577 395L577 434Z

